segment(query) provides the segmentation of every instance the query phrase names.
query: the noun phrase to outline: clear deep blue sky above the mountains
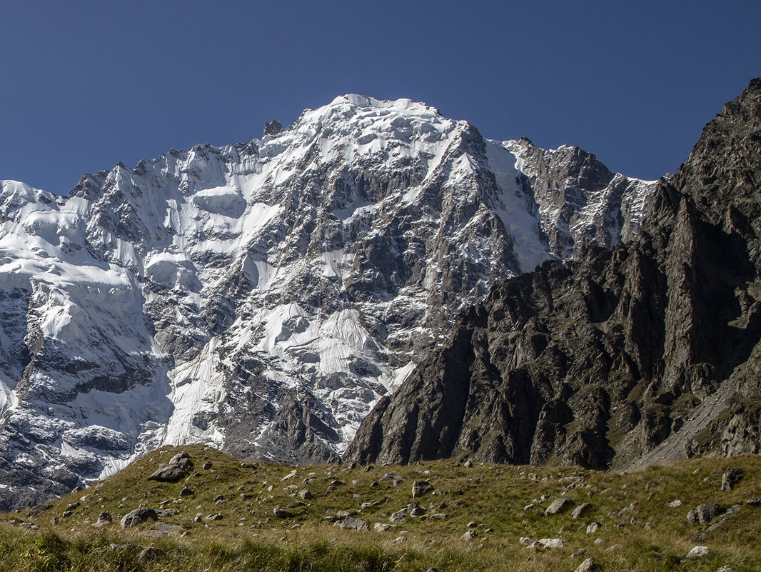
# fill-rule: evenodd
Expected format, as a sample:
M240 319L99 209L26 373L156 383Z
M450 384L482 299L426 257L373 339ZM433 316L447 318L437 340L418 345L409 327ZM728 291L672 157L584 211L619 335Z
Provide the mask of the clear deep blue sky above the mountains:
M759 0L0 0L0 178L68 193L359 93L652 179L757 75Z

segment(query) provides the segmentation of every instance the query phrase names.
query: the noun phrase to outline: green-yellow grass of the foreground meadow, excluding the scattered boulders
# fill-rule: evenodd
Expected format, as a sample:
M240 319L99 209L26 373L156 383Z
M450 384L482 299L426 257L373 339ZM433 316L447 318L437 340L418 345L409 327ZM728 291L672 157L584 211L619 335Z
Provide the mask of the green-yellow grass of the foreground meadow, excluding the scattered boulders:
M147 477L171 455L187 451L196 474L174 484ZM211 462L211 470L202 469ZM730 492L719 490L727 467L742 468L744 478ZM293 470L297 476L282 479ZM401 475L394 486L386 473ZM412 499L412 481L428 480L432 494L414 499L425 518L409 517L387 532L372 529L389 522L391 513ZM304 480L309 482L304 483ZM334 481L339 481L333 484ZM180 496L187 486L194 494ZM270 490L271 487L271 490ZM295 496L307 488L313 499ZM221 495L223 503L215 499ZM544 516L554 498L568 497L590 510L573 519L571 510ZM545 500L542 500L545 497ZM371 466L353 469L339 465L245 465L214 449L188 446L160 449L119 474L85 491L56 500L38 516L0 515L0 570L400 570L440 572L460 570L568 570L593 557L599 570L705 570L730 565L734 572L761 570L761 506L745 503L761 497L761 457L699 459L632 473L587 471L580 468L530 468L474 465L451 461L411 466ZM123 500L126 499L126 500ZM667 506L672 500L682 505ZM686 513L713 500L743 508L723 526L698 541L705 527L692 526ZM72 515L62 513L79 502ZM635 502L629 513L619 511ZM377 503L361 509L361 503ZM524 507L534 503L533 509ZM174 509L176 516L161 522L182 526L186 538L151 538L148 522L122 530L121 516L139 506ZM276 518L275 506L294 516ZM333 526L339 510L365 520L369 531ZM113 524L93 529L101 511ZM221 519L195 522L197 513L221 513ZM443 513L443 519L428 518ZM326 519L328 517L328 519ZM602 523L594 535L587 524ZM476 538L463 541L469 530ZM36 526L37 529L32 527ZM406 542L394 544L404 536ZM519 538L562 538L564 548L525 548ZM599 539L599 540L597 540ZM595 542L597 540L597 543ZM111 545L137 548L112 549ZM611 546L618 545L613 550ZM711 548L708 556L683 561L694 545ZM160 548L156 558L141 559L140 549ZM575 556L574 556L575 554Z

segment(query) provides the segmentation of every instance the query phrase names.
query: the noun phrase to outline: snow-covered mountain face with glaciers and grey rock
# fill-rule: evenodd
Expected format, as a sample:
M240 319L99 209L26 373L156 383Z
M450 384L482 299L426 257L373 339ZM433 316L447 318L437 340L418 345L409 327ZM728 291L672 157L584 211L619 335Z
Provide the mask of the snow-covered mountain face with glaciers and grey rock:
M495 283L638 233L654 184L338 97L263 139L0 194L0 508L164 444L339 459Z

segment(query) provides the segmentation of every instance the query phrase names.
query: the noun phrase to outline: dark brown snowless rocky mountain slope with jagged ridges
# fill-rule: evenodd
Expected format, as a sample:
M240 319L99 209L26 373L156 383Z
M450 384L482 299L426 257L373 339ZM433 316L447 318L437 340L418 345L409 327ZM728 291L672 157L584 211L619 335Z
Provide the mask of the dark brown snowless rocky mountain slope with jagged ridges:
M761 78L659 182L636 238L580 248L466 312L346 458L604 468L761 452Z

